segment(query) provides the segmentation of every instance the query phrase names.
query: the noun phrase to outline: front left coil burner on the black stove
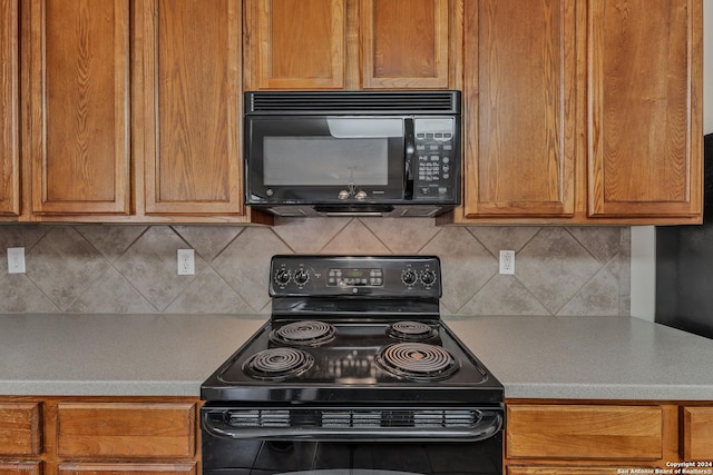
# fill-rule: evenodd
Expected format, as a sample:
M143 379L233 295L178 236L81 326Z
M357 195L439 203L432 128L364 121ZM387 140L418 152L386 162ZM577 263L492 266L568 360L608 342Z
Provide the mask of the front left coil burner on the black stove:
M282 380L300 376L314 364L314 358L297 348L268 348L250 357L243 370L264 380Z

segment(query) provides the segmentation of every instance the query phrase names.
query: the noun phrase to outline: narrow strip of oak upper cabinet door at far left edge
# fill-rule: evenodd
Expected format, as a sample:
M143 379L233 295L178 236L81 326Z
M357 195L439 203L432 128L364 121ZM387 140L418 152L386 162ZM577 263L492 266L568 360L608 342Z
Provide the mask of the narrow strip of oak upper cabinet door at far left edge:
M0 0L0 216L20 214L19 12Z

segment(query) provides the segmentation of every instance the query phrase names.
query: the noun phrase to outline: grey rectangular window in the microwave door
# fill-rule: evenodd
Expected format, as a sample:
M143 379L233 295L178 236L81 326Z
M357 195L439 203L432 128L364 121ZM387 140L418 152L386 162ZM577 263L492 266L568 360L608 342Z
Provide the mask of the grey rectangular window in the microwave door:
M263 138L266 186L385 186L389 139L329 136Z

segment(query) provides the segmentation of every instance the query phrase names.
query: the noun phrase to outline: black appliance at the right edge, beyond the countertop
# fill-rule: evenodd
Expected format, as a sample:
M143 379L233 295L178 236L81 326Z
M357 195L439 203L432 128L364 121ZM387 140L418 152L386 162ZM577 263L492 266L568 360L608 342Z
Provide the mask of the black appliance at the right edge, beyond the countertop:
M703 140L703 225L656 228L655 320L713 338L713 133Z

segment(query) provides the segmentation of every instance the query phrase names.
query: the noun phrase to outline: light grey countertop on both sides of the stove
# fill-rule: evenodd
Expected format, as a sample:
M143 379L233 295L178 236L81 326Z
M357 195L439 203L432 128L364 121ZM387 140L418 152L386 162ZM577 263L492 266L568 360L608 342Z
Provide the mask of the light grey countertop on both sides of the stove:
M266 317L0 315L0 395L198 396ZM445 317L510 398L713 400L713 340L627 317Z

